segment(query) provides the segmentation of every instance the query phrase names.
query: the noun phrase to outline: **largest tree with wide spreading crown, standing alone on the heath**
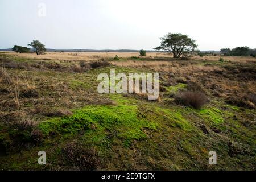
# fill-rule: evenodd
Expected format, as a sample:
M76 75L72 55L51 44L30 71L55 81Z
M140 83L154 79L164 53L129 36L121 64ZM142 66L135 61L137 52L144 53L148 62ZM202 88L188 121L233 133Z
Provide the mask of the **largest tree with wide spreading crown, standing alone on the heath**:
M154 49L172 53L174 58L179 58L182 55L189 56L198 53L196 49L197 45L195 44L196 40L189 38L188 35L168 33L160 38L160 40L160 46Z

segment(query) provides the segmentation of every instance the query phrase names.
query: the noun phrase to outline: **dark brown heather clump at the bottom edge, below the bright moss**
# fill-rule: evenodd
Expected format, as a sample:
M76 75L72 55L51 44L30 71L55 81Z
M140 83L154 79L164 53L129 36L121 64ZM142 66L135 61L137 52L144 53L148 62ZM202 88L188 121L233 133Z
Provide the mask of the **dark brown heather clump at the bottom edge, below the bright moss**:
M87 148L82 144L70 143L63 148L64 158L76 169L92 171L97 169L101 160L94 148Z

